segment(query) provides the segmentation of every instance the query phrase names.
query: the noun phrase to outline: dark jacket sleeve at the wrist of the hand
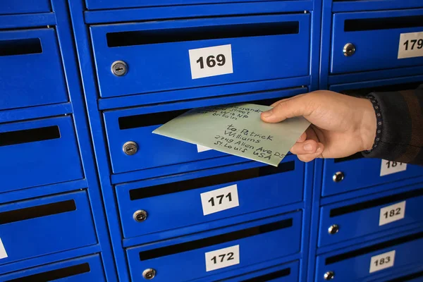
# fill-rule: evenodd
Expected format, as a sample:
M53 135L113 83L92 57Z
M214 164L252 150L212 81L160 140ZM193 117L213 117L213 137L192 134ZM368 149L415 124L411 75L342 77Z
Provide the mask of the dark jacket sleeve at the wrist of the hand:
M416 90L373 92L377 133L364 157L423 165L423 85Z

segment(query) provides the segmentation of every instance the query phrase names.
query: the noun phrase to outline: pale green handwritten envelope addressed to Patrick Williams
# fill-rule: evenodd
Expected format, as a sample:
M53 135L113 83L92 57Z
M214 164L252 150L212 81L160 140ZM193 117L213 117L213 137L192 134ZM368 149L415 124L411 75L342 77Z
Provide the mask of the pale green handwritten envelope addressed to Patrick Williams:
M310 123L303 117L265 123L260 113L269 109L256 104L192 109L153 133L278 166Z

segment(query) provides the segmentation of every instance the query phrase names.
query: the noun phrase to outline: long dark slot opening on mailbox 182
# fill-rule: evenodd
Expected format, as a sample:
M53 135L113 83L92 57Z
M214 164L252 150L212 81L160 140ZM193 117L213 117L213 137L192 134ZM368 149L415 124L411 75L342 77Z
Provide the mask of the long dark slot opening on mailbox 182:
M344 207L338 207L336 209L331 209L330 217L341 216L343 214L350 214L351 212L358 212L363 209L370 209L372 207L377 207L382 204L389 204L393 202L400 202L402 200L407 200L412 197L422 196L423 195L423 188L414 190L414 191L407 191L402 192L396 195L390 195L386 197L381 197L379 199L369 200L366 202L360 202L357 204L350 204Z

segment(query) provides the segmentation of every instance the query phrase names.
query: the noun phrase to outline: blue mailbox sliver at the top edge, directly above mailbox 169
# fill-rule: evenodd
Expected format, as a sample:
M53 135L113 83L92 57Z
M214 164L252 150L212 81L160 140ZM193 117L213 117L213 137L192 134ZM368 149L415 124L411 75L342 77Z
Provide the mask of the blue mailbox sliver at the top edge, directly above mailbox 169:
M85 0L87 8L90 10L109 9L109 8L134 8L144 6L173 6L187 4L219 4L219 3L238 3L238 2L262 2L264 0L159 0L159 1L137 1L137 0ZM292 0L291 0L292 1ZM298 0L294 0L298 1Z

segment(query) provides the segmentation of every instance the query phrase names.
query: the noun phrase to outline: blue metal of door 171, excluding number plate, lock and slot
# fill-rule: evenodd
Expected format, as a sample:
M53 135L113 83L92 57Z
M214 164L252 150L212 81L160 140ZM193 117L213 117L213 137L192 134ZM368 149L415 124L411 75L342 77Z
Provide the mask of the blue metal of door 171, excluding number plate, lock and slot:
M156 178L144 180L141 182L116 185L116 194L121 213L121 222L123 226L123 235L131 237L165 231L182 226L191 226L197 223L207 221L216 221L218 219L257 212L262 209L282 206L302 201L302 192L304 190L304 164L296 157L289 156L283 160L284 163L295 166L295 170L279 172L264 176L259 175L258 169L264 165L248 162L235 166L224 166L209 171L197 173L187 173L180 176L168 176L166 178ZM283 166L281 164L281 166ZM256 171L248 171L250 168L257 168ZM228 181L229 177L224 173L233 173L240 171L238 181ZM244 172L241 172L244 171ZM238 173L238 175L241 175ZM211 176L214 176L211 178ZM251 178L254 176L254 178ZM131 200L131 190L152 189L158 185L172 183L178 185L180 182L186 183L187 180L207 178L208 181L220 181L219 185L212 185L186 190L181 192L169 191L167 194L156 197L146 197L140 200ZM242 180L242 178L250 178ZM231 178L229 178L231 179ZM181 183L181 184L182 184ZM292 183L289 187L281 187L280 183ZM214 214L203 215L200 194L219 188L237 185L239 206L232 209L226 209ZM266 193L262 188L266 187ZM292 191L292 192L290 192ZM279 196L285 195L283 199ZM190 203L190 204L187 204ZM138 209L144 209L148 212L148 219L142 223L133 219L133 214ZM178 219L175 221L174 219Z

